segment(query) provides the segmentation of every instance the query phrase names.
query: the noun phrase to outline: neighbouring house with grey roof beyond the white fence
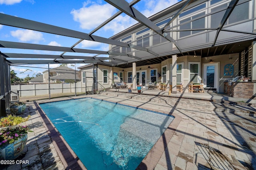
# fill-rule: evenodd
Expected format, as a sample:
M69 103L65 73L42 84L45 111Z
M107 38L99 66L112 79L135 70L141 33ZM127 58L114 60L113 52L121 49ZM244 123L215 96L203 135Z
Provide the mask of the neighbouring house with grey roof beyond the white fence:
M50 82L57 82L57 80L61 80L61 79L58 79L58 78L56 78L56 79L52 79L51 77L53 77L53 76L59 76L59 75L61 75L61 74L66 74L66 73L69 73L69 74L73 74L73 75L75 75L75 70L74 69L72 69L72 68L69 68L69 67L66 67L66 66L59 66L59 67L56 67L56 68L51 68L50 69ZM44 72L43 72L43 82L44 83L48 83L49 81L49 76L48 76L49 74L48 74L48 70L45 70ZM68 75L68 76L70 76L70 75ZM72 76L70 76L70 77L72 77ZM74 76L73 76L74 77Z

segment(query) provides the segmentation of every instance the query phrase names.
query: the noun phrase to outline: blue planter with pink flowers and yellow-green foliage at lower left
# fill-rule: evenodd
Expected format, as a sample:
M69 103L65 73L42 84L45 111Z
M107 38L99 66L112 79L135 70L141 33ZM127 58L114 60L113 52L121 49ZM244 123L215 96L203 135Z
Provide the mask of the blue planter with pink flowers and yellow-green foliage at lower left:
M27 121L22 118L9 115L0 120L0 160L14 160L22 154L28 139L28 127L18 126L16 123Z

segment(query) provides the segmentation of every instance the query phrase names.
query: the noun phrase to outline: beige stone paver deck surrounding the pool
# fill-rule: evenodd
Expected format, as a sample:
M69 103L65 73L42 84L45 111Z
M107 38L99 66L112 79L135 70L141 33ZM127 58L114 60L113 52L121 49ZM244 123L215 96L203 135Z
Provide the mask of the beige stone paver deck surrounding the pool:
M82 98L72 97L72 98ZM136 93L107 92L86 97L171 114L175 117L138 170L256 169L256 118L246 104ZM44 100L45 102L68 98ZM29 165L2 169L86 169L38 107L29 102L28 134L23 157ZM200 105L200 106L198 106Z

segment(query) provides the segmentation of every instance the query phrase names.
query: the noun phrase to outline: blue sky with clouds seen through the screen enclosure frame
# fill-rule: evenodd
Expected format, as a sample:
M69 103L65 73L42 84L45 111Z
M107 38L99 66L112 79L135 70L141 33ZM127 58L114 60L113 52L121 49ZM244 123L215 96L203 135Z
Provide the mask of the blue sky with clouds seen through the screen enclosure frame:
M131 2L132 0L126 1ZM133 7L146 17L150 17L165 8L176 4L178 1L180 0L140 0ZM0 0L0 13L84 33L90 33L90 31L106 21L116 12L118 12L118 9L104 0ZM138 21L130 18L130 16L122 14L93 33L93 35L109 38L137 22ZM0 25L0 41L71 47L79 41L79 39ZM107 44L86 40L79 43L75 48L108 51ZM25 49L0 48L0 51L2 53L50 54L49 51ZM62 52L51 52L51 54L60 55ZM66 53L66 55L74 54ZM94 54L83 55L93 56ZM55 68L59 65L60 64L50 64L50 68ZM82 65L84 64L76 64L76 68ZM75 69L74 66L69 67ZM46 68L48 68L48 64L11 66L11 70L14 70L19 78L25 78L28 74L30 77L35 76L36 74L45 71Z

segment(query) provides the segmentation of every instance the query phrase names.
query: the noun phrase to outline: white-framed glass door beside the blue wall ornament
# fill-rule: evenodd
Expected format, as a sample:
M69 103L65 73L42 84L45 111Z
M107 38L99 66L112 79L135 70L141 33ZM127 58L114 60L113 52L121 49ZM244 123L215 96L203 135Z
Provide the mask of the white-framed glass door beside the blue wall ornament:
M204 64L204 88L218 91L218 63Z

